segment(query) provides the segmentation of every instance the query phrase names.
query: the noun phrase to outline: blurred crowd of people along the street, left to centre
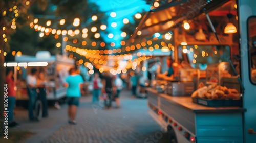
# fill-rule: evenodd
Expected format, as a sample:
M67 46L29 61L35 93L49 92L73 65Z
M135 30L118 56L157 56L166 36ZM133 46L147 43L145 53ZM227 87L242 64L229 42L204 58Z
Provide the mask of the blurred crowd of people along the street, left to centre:
M42 103L42 117L48 117L48 80L45 72L38 72L36 68L31 68L29 74L26 76L26 86L28 94L28 118L30 121L38 121L35 115L35 103L37 100ZM92 91L92 104L98 104L100 101L104 103L104 109L120 108L120 93L126 85L132 89L132 96L137 96L137 86L139 85L139 78L136 74L130 74L129 79L121 79L120 75L112 75L109 71L102 74L94 73L93 78L90 80L93 85ZM16 101L16 84L13 78L13 69L6 69L6 83L8 84L8 101L9 101L9 127L17 126L18 123L14 121L13 109ZM66 77L64 86L67 88L66 103L68 104L68 122L76 125L75 117L79 100L84 93L84 85L88 82L84 81L79 71L71 68L69 76ZM112 102L115 101L116 106L112 107Z

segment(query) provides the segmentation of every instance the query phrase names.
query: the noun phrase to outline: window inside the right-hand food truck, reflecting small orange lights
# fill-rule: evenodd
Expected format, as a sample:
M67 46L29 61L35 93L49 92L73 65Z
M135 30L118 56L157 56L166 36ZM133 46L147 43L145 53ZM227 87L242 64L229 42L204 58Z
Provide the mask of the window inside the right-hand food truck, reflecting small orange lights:
M228 61L230 47L227 45L179 46L179 60L187 61L193 68L205 70L208 64Z

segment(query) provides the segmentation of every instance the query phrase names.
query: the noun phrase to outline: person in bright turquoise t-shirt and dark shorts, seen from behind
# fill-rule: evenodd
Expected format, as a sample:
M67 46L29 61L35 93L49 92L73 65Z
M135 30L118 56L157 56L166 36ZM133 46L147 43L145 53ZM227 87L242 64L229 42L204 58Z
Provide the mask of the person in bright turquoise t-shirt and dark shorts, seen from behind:
M70 69L70 75L66 78L65 87L67 87L67 103L69 123L76 125L75 116L77 107L79 106L79 98L81 97L80 86L83 83L80 75L76 74L76 69Z

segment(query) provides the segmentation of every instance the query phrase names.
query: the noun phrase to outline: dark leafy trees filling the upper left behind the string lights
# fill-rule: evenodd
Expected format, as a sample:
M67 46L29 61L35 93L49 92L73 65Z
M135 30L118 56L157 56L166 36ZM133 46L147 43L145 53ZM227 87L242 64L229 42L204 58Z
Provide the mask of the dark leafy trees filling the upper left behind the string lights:
M97 15L98 19L96 21L92 21L92 15ZM15 50L22 51L23 54L29 55L34 55L39 49L47 49L52 51L52 53L56 52L56 49L54 49L55 43L62 41L62 39L54 39L54 35L38 38L38 32L35 32L34 29L29 27L35 17L40 19L39 22L45 24L48 16L53 17L51 18L53 21L52 26L56 29L80 29L80 31L83 27L87 27L88 29L93 26L99 27L102 23L106 22L107 18L103 12L99 11L99 8L95 3L88 2L86 0L2 0L0 2L1 90L3 90L3 83L5 83L5 67L3 66L5 62L5 57L3 55L4 52ZM74 18L80 19L80 25L78 27L71 27ZM60 19L66 20L65 25L58 24ZM73 42L74 39L78 39L79 41L85 40L81 36L70 36L69 42ZM88 31L88 39L98 42L103 41L101 38L94 38L94 33L91 31ZM0 93L0 97L0 103L2 105L2 103L4 103L4 92ZM1 106L0 109L0 112L3 113L3 106ZM3 128L3 115L1 115L0 125L1 128ZM0 133L3 135L2 129Z

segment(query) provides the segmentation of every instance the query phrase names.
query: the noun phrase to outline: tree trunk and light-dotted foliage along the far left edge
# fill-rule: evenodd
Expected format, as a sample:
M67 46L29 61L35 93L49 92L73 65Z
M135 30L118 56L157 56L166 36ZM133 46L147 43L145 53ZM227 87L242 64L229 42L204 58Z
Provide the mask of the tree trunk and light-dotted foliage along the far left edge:
M31 16L28 13L28 9L31 5L34 4L34 0L32 1L8 1L3 0L0 2L0 136L3 135L4 128L4 83L5 83L5 57L4 52L10 50L10 35L15 32L17 27L23 27L27 22L31 21ZM44 7L47 4L47 0L38 0L38 4L40 4L40 8Z

